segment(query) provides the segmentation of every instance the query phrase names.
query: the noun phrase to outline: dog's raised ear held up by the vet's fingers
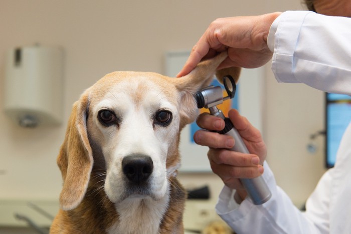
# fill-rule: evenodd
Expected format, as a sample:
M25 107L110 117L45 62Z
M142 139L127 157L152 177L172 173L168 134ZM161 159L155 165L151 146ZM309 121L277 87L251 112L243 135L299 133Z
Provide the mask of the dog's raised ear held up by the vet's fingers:
M180 93L181 127L193 122L198 116L198 107L194 95L202 88L210 85L217 67L227 58L227 52L222 52L216 57L205 60L188 75L175 79L175 86ZM237 82L240 68L232 67L217 71L218 80L223 83L223 77L231 75Z

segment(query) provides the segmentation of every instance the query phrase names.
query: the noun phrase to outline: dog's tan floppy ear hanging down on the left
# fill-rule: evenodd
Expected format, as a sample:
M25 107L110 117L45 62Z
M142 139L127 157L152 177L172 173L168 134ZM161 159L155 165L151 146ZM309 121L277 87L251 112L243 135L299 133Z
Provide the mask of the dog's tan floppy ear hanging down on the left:
M93 165L86 117L88 97L82 95L73 105L65 140L57 157L63 178L60 206L63 210L74 209L82 201L88 187Z

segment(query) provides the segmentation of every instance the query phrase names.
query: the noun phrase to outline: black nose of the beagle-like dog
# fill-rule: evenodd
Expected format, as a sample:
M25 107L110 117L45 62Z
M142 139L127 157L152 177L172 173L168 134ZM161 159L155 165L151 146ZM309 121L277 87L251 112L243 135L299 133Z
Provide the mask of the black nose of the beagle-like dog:
M146 155L136 154L126 156L122 160L122 170L131 182L144 182L152 173L153 162Z

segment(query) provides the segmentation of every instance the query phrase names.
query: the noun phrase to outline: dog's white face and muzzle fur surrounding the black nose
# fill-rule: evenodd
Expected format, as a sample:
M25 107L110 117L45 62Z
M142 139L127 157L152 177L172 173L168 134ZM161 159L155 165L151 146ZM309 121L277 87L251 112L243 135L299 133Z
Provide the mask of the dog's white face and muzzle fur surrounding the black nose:
M166 158L170 145L176 145L180 117L177 95L167 96L163 89L148 79L122 80L91 106L106 162L105 192L115 203L133 197L159 200L167 191ZM133 186L126 178L122 161L129 155L152 160L145 184Z

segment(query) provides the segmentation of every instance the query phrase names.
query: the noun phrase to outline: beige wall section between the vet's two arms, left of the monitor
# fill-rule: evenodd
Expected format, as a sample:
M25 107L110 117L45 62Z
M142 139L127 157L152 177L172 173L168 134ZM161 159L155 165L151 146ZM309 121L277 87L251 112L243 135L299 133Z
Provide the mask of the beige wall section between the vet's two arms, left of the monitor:
M324 129L324 93L302 84L279 84L267 72L264 138L279 186L301 205L324 168L324 138L308 153L309 136Z

